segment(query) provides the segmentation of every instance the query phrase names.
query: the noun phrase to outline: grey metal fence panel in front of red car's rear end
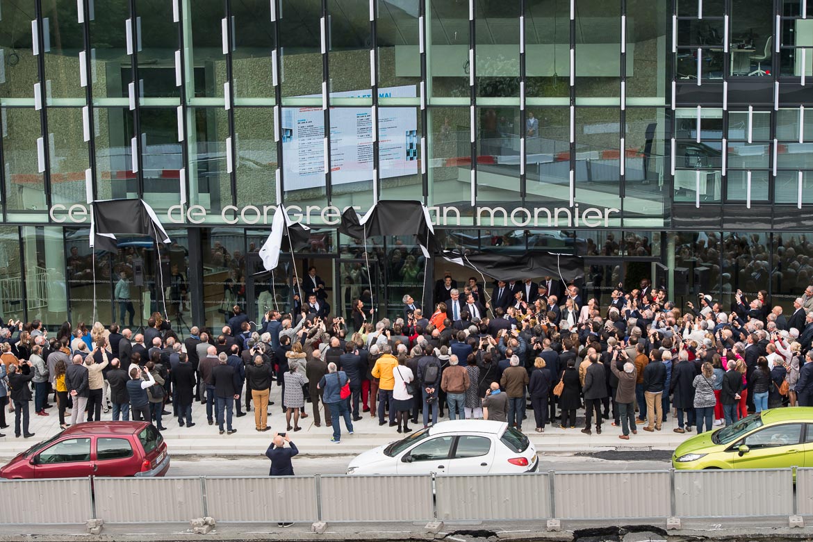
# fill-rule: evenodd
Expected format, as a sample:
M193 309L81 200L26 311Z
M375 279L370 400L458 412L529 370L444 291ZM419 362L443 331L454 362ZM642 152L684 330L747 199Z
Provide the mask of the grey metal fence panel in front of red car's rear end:
M96 517L108 523L189 522L204 514L199 478L93 479Z

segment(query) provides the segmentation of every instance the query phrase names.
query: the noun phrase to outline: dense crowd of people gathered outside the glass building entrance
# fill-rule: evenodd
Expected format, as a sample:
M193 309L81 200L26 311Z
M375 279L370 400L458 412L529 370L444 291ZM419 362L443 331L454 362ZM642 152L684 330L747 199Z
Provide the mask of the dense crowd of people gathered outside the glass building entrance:
M253 323L235 305L220 329L193 326L183 339L159 313L143 332L64 323L50 336L37 320L11 320L0 329L0 427L8 406L15 436L33 436L33 399L34 415L58 414L63 428L107 413L193 427L205 412L231 435L233 418L253 409L255 430L269 431L275 386L287 431L312 415L333 427L334 443L342 420L352 434L366 413L400 433L446 416L544 432L576 429L584 409L582 432L610 423L628 440L638 426L660 431L670 413L684 433L813 405L813 286L788 316L765 292L737 291L726 308L701 294L681 310L646 279L630 291L619 284L609 306L554 277L490 290L446 275L431 311L407 294L401 314L376 319L357 299L348 323L311 269L291 313Z

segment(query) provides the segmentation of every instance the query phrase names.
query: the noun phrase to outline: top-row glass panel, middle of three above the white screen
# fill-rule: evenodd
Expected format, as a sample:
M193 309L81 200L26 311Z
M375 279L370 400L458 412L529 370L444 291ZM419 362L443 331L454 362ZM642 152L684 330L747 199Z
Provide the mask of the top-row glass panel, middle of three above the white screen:
M331 96L358 95L370 88L370 4L367 0L328 0L328 15Z

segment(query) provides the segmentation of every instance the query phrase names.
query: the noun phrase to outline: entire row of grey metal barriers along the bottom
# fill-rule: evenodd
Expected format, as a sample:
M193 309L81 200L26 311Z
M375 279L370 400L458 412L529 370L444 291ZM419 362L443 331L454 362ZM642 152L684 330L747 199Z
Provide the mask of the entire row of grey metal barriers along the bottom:
M795 472L796 492L793 469L0 480L0 524L811 516L813 468Z

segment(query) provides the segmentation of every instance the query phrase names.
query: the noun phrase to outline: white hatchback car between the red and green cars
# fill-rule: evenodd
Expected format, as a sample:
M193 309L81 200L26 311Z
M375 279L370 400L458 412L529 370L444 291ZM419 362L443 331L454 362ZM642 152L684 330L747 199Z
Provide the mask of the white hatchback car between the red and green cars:
M494 475L533 472L539 460L527 436L505 422L453 420L437 423L393 443L368 450L348 475Z

